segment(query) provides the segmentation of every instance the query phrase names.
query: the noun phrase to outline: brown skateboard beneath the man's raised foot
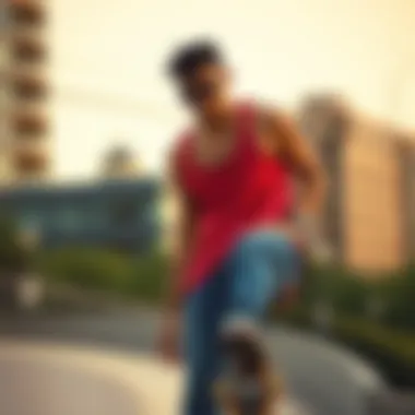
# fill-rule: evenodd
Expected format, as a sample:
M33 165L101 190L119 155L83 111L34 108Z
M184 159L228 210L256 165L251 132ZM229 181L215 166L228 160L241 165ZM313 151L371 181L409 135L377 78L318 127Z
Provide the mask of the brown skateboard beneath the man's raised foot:
M228 340L224 360L224 370L214 384L214 396L224 415L277 415L282 381L258 342Z

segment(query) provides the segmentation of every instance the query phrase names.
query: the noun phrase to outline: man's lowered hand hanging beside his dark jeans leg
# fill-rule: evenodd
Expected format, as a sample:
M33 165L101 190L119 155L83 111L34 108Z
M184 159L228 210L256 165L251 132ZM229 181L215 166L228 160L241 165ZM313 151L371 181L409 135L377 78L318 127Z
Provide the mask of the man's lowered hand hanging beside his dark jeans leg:
M177 311L170 311L164 317L158 351L167 363L177 363L180 357L181 321Z

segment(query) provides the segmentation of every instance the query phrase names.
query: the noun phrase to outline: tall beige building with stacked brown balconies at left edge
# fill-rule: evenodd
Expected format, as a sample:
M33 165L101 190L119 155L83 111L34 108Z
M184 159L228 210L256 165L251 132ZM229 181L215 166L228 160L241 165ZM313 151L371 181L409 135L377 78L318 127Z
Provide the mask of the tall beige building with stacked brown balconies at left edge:
M0 179L44 179L50 173L46 4L3 0L2 8Z

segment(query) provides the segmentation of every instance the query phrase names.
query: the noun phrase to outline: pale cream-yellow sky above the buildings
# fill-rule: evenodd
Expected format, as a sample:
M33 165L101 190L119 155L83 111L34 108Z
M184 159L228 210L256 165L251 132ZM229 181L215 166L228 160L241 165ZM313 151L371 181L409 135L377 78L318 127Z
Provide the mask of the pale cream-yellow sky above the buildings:
M98 174L127 145L152 171L179 131L164 63L177 45L224 45L240 95L295 108L340 92L415 130L415 0L48 0L59 177Z

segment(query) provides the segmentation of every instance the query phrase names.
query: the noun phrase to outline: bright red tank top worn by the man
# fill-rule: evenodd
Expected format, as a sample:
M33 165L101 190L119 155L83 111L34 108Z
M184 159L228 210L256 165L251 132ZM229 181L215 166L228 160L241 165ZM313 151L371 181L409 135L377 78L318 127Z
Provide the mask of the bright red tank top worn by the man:
M176 152L178 180L194 210L193 245L181 278L190 293L203 284L237 240L289 212L292 192L284 164L259 146L254 105L237 107L233 154L215 167L195 157L195 134L185 134Z

